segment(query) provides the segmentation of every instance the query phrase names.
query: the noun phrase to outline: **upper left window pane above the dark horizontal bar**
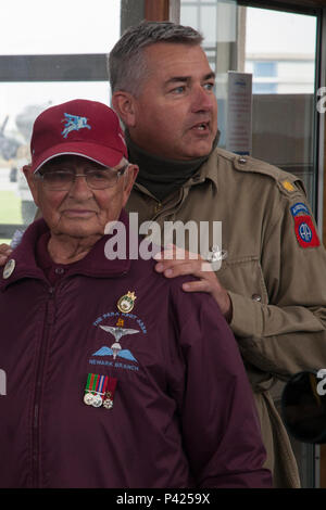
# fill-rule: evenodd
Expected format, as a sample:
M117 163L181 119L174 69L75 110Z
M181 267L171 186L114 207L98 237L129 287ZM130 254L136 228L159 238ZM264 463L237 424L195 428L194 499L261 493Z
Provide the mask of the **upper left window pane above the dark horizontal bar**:
M120 3L7 1L1 9L1 54L106 53L120 36Z

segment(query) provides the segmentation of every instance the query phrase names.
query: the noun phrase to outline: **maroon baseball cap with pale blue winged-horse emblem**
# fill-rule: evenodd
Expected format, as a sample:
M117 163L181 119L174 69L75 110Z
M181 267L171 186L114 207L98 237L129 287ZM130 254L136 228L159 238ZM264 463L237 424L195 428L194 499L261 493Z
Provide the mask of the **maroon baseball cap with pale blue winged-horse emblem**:
M36 118L30 154L33 173L64 154L111 167L128 157L117 115L105 104L85 99L51 106Z

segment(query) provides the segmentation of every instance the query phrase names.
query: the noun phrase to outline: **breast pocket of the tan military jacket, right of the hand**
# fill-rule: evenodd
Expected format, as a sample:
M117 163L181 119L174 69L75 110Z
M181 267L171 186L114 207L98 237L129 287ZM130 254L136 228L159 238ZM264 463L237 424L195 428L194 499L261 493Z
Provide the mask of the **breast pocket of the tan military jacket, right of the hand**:
M227 259L216 276L226 290L268 304L268 293L258 257L246 256Z

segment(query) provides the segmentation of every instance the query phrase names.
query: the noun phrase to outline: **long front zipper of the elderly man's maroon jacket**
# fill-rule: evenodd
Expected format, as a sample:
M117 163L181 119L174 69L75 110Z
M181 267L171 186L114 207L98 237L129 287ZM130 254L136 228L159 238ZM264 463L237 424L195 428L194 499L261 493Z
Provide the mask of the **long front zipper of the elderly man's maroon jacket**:
M34 412L33 412L33 433L32 433L32 485L33 487L40 487L40 406L43 392L43 371L46 355L48 352L48 341L50 327L54 321L54 288L48 289L50 297L46 304L46 315L43 331L40 340L40 347L38 354L38 366L36 372L36 385L34 396Z

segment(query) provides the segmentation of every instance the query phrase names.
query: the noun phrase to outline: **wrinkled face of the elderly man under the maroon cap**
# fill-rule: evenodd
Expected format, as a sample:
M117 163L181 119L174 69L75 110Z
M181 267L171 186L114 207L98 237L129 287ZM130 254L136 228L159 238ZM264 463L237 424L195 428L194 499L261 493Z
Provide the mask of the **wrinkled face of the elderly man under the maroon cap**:
M115 169L122 168L123 163ZM80 156L59 156L46 163L40 173L68 169L75 174L103 170L103 166ZM95 190L84 177L77 177L67 191L49 189L47 183L24 168L36 205L52 233L73 238L103 235L105 225L118 218L134 184L137 167L129 165L112 188Z

